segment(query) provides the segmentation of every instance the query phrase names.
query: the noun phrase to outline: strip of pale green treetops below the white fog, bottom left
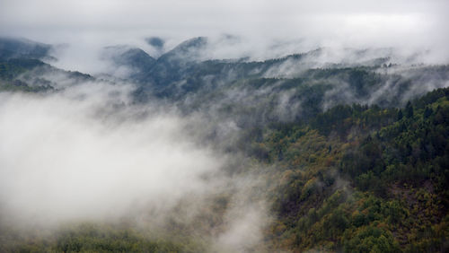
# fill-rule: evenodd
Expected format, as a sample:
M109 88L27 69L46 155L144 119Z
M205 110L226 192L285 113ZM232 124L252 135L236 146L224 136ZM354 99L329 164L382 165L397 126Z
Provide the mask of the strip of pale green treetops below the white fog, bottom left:
M201 252L174 240L154 238L143 231L82 223L66 226L51 236L32 235L0 247L3 252Z

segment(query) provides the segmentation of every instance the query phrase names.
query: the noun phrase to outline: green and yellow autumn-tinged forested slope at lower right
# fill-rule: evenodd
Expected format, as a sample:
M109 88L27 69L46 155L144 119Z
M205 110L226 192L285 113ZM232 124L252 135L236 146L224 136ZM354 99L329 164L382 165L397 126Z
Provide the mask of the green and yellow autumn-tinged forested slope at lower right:
M448 88L403 110L337 106L288 129L260 143L280 169L276 247L445 251Z

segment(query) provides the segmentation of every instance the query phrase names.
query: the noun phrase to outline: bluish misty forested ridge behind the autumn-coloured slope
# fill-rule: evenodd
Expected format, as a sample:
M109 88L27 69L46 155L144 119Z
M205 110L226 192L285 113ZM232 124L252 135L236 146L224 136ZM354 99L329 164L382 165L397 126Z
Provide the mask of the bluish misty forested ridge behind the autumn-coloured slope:
M445 87L449 77L447 65L395 64L391 48L319 48L265 61L201 60L206 47L207 39L189 39L130 76L129 82L139 83L137 100L172 100L186 112L216 109L218 118L249 127L307 120L339 104L402 107Z

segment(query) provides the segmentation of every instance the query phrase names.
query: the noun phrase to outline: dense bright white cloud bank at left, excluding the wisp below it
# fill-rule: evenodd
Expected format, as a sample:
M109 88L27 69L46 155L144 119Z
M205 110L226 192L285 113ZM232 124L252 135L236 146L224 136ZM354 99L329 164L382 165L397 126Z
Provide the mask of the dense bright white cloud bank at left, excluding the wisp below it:
M98 87L95 87L98 86ZM200 193L224 160L171 114L133 118L123 88L86 83L49 97L2 93L1 201L21 220L120 216ZM121 109L120 109L121 107Z

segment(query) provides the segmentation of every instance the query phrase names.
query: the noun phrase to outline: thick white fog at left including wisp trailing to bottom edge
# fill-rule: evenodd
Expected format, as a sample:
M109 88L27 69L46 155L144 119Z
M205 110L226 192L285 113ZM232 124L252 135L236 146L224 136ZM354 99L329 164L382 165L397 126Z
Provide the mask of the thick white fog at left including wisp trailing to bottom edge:
M169 219L195 225L218 215L223 222L202 231L208 247L257 246L268 222L254 191L262 179L225 172L244 161L198 139L201 116L181 117L155 101L135 105L133 89L90 82L50 94L0 94L3 224L48 230L127 218L155 232L168 229ZM224 216L210 214L207 206L224 194Z

